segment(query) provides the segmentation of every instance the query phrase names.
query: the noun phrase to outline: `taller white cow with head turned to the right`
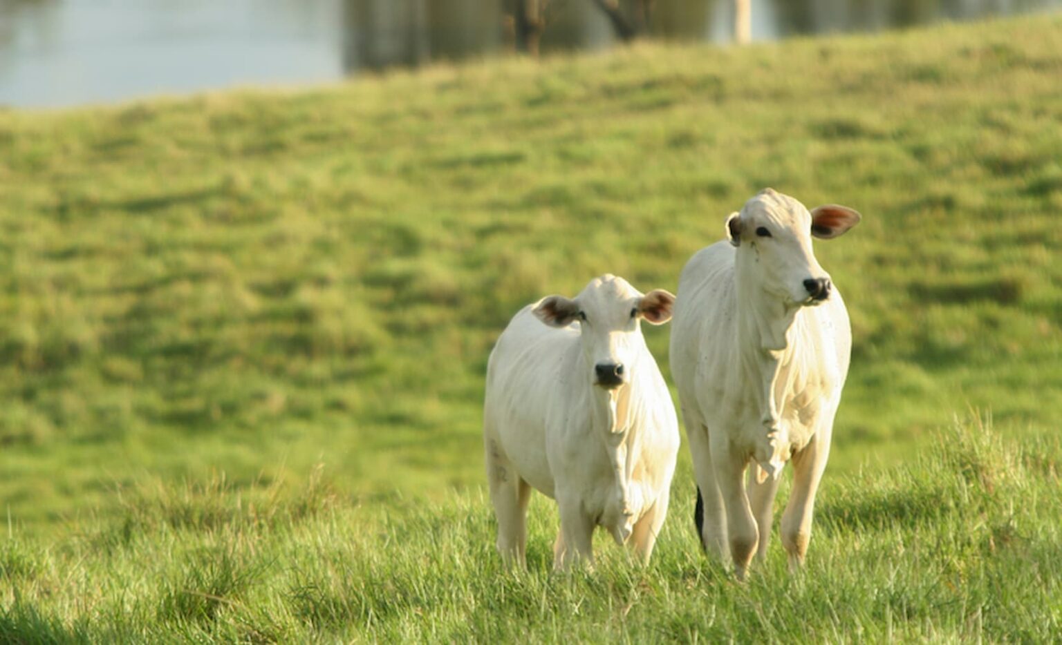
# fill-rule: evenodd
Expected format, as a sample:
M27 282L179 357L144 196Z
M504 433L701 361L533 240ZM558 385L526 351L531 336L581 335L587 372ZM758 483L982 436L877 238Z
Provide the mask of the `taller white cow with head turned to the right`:
M729 552L739 578L757 545L759 559L767 553L790 458L782 543L791 568L807 552L852 349L844 302L811 237L836 238L859 220L843 206L808 212L767 189L726 220L729 242L698 251L679 279L671 373L697 476L695 521L705 550Z

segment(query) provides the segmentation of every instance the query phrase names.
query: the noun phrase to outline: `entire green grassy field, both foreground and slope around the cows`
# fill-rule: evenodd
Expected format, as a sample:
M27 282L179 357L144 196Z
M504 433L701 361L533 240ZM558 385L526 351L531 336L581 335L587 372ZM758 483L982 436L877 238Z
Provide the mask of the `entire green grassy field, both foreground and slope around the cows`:
M1060 33L0 111L0 640L1057 638ZM863 213L817 244L855 348L809 571L707 562L683 454L648 569L550 576L539 500L502 573L494 337L601 273L673 291L765 186Z

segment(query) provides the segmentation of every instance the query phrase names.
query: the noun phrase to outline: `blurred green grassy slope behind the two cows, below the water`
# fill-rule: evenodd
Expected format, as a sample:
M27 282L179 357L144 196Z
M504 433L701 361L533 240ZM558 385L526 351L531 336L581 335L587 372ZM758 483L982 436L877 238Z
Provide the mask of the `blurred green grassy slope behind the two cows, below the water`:
M818 245L855 331L834 469L895 463L966 405L1043 432L1062 413L1060 28L0 111L0 499L33 530L148 473L478 483L508 317L604 272L673 289L768 185L866 215ZM666 362L667 328L649 334Z

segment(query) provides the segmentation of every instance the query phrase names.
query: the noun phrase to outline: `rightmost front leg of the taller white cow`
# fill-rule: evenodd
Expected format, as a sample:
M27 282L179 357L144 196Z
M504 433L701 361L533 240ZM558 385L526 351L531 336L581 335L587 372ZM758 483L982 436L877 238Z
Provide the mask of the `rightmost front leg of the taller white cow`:
M819 490L822 471L829 456L829 430L816 433L804 450L793 454L793 489L789 503L782 513L782 545L789 554L789 569L795 571L804 563L807 545L811 540L811 516L815 512L815 494Z

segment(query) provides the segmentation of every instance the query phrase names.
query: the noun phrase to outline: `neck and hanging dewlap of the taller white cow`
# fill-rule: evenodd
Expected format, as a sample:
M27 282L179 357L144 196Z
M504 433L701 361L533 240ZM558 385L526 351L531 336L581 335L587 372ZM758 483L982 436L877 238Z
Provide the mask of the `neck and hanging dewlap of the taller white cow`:
M757 437L753 457L759 465L757 480L776 478L789 447L789 431L782 422L778 396L788 387L792 370L791 330L800 314L799 306L789 306L760 289L742 289L737 308L738 354L743 379L753 384L750 394L759 411L763 435Z

